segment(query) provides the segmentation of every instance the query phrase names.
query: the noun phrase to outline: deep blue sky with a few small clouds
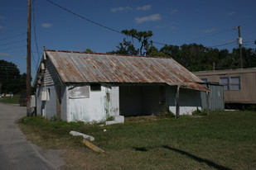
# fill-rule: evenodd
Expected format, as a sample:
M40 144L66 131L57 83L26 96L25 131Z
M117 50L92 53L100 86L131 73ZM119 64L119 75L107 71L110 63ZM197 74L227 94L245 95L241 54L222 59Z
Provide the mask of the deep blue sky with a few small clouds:
M78 15L117 31L152 31L152 40L168 45L201 44L232 50L241 26L244 46L255 48L255 0L51 0ZM48 50L106 53L125 35L94 25L46 0L32 0L31 73L43 46ZM26 72L27 0L1 0L0 59ZM35 27L35 29L34 29ZM35 34L36 30L36 34ZM39 55L36 50L36 40ZM128 38L130 40L130 38ZM136 45L136 44L135 44ZM158 49L163 45L154 44Z

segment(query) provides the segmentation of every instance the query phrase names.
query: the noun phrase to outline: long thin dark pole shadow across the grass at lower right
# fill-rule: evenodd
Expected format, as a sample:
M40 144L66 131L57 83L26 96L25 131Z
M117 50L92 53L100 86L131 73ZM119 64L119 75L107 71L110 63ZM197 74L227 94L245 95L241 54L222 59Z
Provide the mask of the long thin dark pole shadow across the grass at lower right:
M222 165L219 165L217 163L214 163L210 160L207 160L205 158L199 158L197 157L196 155L193 155L191 153L187 153L186 151L183 151L183 150L180 150L180 149L175 149L175 148L171 148L170 146L167 146L167 145L162 145L163 148L165 149L170 149L172 151L175 151L177 153L181 153L181 154L184 154L190 158L193 158L194 160L200 162L200 163L206 163L207 165L209 165L210 167L213 167L213 168L216 168L216 169L225 169L225 170L231 170L231 168L225 168L224 166Z

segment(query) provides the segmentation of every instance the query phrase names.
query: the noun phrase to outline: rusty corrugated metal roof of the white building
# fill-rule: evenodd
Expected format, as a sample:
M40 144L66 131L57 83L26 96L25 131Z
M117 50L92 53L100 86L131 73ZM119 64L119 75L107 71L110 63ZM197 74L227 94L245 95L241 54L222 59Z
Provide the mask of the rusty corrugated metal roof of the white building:
M63 83L167 83L200 91L200 78L171 58L46 50Z

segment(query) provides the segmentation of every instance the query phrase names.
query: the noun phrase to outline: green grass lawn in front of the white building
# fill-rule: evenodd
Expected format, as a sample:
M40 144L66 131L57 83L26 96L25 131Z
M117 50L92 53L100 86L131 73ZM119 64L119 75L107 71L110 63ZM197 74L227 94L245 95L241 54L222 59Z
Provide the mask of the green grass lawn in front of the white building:
M177 120L130 117L103 127L24 117L19 126L44 149L68 149L62 169L256 169L255 111ZM86 148L70 130L94 136L105 153Z

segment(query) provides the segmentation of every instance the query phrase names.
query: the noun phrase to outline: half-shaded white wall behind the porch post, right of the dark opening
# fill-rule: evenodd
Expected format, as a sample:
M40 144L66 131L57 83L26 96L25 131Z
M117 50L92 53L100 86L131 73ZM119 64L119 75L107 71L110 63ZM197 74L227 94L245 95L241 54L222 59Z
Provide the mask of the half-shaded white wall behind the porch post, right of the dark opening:
M176 86L167 86L167 104L169 110L176 114ZM200 92L196 90L180 88L180 115L191 115L192 111L201 110Z

